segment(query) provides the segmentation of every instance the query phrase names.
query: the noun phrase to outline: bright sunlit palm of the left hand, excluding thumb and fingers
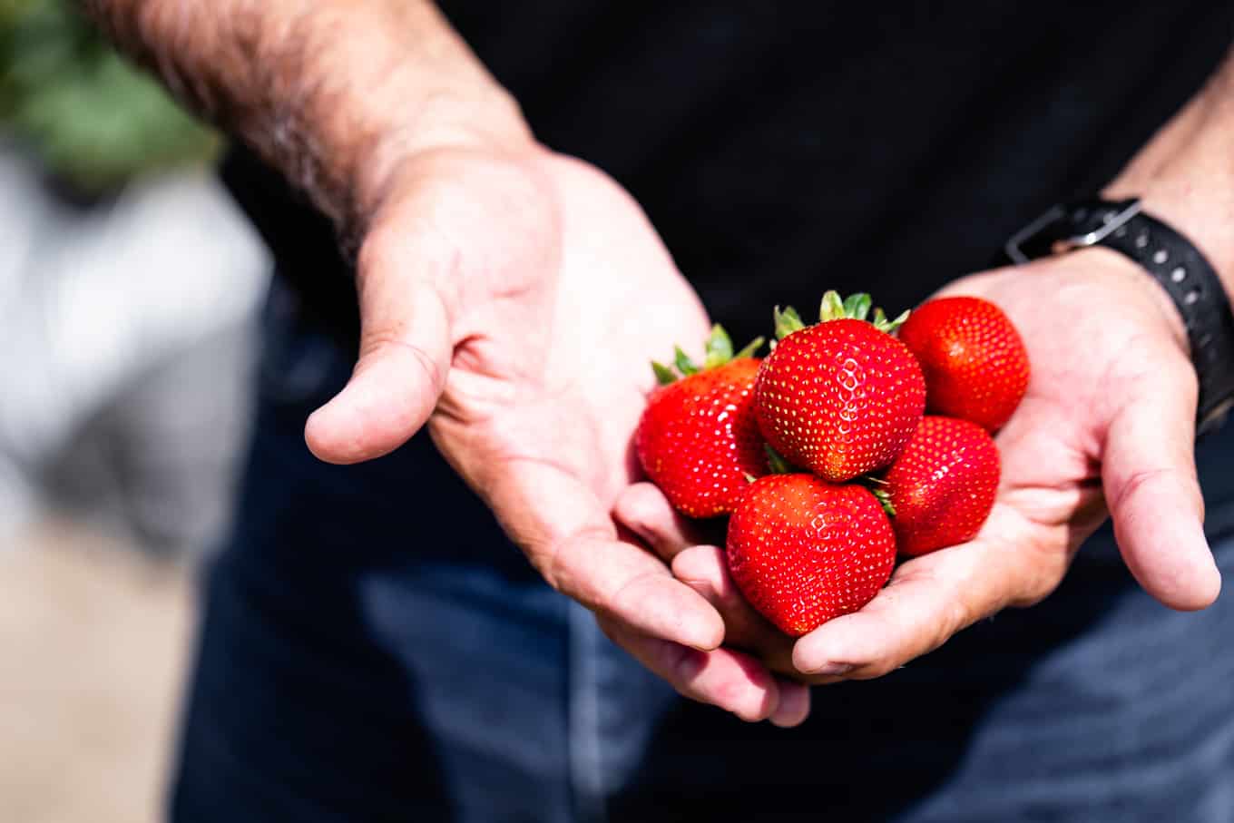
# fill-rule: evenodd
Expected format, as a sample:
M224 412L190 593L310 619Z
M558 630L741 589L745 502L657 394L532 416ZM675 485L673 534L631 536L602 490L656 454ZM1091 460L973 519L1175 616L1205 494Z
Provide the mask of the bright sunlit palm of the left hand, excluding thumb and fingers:
M549 278L528 289L533 299L524 292L502 306L478 295L464 307L429 422L442 452L521 540L605 528L600 518L607 523L633 479L628 445L652 384L649 360L679 341L701 341L707 327L624 192L570 160L553 158L543 172L538 207L555 212L539 221L548 231L490 230L503 246L486 253L516 265L548 258Z

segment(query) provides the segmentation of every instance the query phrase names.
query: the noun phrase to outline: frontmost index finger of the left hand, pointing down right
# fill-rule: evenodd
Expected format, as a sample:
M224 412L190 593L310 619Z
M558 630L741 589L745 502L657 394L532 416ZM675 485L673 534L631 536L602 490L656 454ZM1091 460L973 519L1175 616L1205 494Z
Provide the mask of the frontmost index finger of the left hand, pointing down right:
M595 492L553 464L487 466L480 491L544 579L594 612L696 649L724 639L719 613L640 547L617 539Z

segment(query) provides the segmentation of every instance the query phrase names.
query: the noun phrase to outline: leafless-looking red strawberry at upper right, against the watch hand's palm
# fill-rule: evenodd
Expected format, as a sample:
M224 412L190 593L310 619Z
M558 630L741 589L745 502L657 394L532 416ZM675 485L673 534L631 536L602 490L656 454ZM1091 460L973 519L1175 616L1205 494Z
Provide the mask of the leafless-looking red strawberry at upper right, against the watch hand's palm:
M980 297L929 300L900 329L926 371L929 410L997 431L1028 389L1028 352L998 306Z

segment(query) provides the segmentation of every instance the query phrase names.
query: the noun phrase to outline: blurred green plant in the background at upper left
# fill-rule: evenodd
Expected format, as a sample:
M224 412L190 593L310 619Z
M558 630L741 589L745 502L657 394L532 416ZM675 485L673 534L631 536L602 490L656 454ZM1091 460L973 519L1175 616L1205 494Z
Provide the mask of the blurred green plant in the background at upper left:
M209 160L218 136L117 56L74 0L0 0L0 131L83 194Z

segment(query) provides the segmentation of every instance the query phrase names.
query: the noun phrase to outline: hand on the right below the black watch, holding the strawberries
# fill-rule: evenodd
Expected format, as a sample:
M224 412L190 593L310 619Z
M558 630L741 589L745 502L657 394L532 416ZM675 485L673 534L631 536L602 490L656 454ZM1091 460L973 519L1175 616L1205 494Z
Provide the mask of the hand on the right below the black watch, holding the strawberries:
M1196 376L1165 292L1133 263L1090 249L965 278L944 294L998 304L1032 359L1024 402L997 437L998 501L976 539L902 564L865 608L801 638L793 666L814 682L881 676L1001 608L1039 602L1111 513L1127 565L1162 603L1203 608L1220 589L1192 458ZM673 540L647 501L623 506L655 524L649 539ZM674 570L726 611L735 642L734 626L750 617L721 595L732 589L722 556L691 548ZM755 642L782 670L787 638Z

